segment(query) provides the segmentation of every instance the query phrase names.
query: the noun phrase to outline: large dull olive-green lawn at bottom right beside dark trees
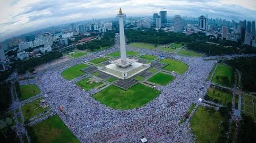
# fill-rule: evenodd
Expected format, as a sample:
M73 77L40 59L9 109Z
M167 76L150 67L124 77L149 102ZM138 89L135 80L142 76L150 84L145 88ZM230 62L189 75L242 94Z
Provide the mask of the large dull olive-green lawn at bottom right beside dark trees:
M190 120L190 127L196 136L196 142L216 142L222 135L221 132L224 131L224 127L221 125L222 121L224 118L219 111L211 113L207 108L198 106Z

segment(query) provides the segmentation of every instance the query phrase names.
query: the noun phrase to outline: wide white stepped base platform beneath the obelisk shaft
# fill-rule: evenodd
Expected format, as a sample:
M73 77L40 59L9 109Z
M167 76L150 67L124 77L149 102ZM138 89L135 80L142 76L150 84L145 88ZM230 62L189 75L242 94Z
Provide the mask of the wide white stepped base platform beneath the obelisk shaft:
M125 68L111 63L103 67L98 67L98 70L121 79L128 79L149 67L150 64L142 64L140 62L133 62Z

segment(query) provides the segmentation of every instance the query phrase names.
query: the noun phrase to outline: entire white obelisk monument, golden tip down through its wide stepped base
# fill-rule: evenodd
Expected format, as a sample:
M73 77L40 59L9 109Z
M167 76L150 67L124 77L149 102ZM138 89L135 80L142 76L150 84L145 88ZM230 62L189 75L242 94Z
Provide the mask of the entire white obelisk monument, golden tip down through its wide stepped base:
M132 59L126 57L126 47L125 47L125 32L123 18L125 17L120 8L119 14L119 40L120 40L120 58L110 61L111 64L98 67L98 70L105 72L109 75L121 79L128 79L141 71L150 67L150 64L142 64L137 62L138 59Z

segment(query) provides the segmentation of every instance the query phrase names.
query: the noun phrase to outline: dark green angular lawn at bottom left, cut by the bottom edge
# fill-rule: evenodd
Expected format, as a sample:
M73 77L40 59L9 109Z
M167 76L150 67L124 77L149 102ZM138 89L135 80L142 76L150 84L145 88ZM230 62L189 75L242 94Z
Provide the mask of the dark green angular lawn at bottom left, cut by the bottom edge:
M37 123L32 127L39 142L79 143L79 140L72 134L57 115Z

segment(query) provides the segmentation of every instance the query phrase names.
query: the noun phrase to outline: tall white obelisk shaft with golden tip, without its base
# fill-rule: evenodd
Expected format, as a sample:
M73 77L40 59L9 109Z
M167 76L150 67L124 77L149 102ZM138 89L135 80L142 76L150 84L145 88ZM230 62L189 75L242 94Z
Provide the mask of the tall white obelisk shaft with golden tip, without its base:
M122 10L120 8L119 14L117 14L119 17L119 36L120 36L120 51L121 51L121 61L122 64L126 64L126 50L125 50L125 32L124 32L124 22L123 17L125 16L122 13Z

